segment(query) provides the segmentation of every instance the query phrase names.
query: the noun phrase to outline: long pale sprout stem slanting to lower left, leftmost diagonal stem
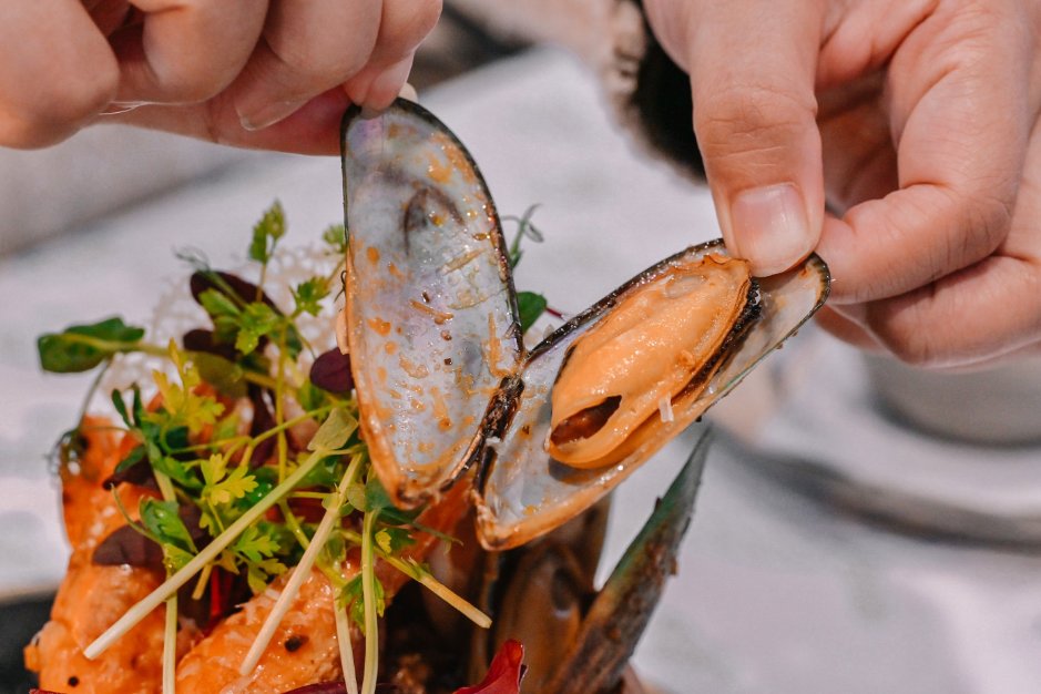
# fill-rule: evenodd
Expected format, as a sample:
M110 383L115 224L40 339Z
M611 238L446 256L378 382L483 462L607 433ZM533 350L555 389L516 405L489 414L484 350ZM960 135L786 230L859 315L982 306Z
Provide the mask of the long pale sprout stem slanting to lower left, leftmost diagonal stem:
M216 557L223 552L227 545L235 541L235 538L242 534L246 528L252 525L254 522L256 522L257 519L266 513L267 509L275 506L278 499L287 494L294 487L299 484L300 480L303 480L307 473L310 472L316 465L318 465L319 460L326 456L333 455L334 452L335 451L319 449L312 453L307 460L305 460L304 463L293 472L293 474L287 477L282 484L275 487L267 493L266 497L258 501L248 511L238 517L238 519L232 523L227 530L214 538L213 542L203 548L203 550L188 563L186 563L180 571L166 579L162 585L156 588L137 604L127 610L123 616L116 620L112 626L105 630L103 634L101 634L98 639L94 640L93 643L83 650L83 655L85 655L89 660L93 660L101 655L109 646L115 643L120 636L136 626L137 623L147 616L152 610L157 608L160 603L165 602L167 598L176 593L177 590L187 583L193 575L198 573L203 567L216 559Z

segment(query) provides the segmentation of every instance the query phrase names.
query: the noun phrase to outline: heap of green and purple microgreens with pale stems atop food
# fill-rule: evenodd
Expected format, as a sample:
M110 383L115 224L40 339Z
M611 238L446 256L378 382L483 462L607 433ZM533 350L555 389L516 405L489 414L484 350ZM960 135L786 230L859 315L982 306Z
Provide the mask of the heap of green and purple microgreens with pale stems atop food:
M524 238L541 242L531 224L534 207L513 218L511 266L522 256ZM331 272L289 287L293 306L277 306L265 289L268 265L286 233L282 205L275 202L253 227L247 257L256 282L218 272L198 254L182 254L192 267L192 296L210 325L188 330L180 344L155 344L146 330L120 317L75 325L39 337L40 364L58 374L98 369L76 427L62 435L57 450L63 466L82 452L82 427L101 376L120 355L142 354L161 367L150 382L111 392L116 428L134 446L105 481L113 490L127 532L115 532L95 551L118 563L161 561L166 581L122 615L91 643L84 654L98 657L160 604L166 605L163 692L174 692L177 591L192 585L192 600L210 598L210 619L235 610L229 586L264 591L275 578L296 568L257 640L242 663L251 672L300 583L313 568L336 592L336 626L348 692L358 692L350 652L349 625L365 635L361 692L376 688L377 619L386 608L376 575L376 559L418 581L481 626L490 620L435 579L422 563L402 554L415 533L442 535L418 523L422 509L395 508L369 467L358 429L349 358L333 348L318 353L297 326L305 314L334 319L334 289L340 286L346 233L335 225L322 234L325 253L337 258ZM518 293L527 330L547 310L545 298ZM303 365L310 364L309 369ZM147 394L147 395L146 395ZM248 404L244 407L244 404ZM292 405L292 407L290 407ZM317 427L309 441L294 431ZM120 482L154 486L133 520L115 494ZM347 522L349 518L356 522ZM152 551L129 557L111 547L141 535ZM140 547L141 541L136 544ZM157 550L157 551L156 551ZM361 571L345 580L340 568L349 551L360 550ZM140 553L140 552L139 552ZM131 554L133 554L131 552ZM150 559L151 558L151 559ZM241 602L241 600L239 600Z

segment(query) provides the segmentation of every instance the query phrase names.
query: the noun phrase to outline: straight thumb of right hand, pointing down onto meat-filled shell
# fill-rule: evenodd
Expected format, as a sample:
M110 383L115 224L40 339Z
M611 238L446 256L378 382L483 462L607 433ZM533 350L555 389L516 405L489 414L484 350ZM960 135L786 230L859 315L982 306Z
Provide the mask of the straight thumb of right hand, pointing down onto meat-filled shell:
M669 23L660 11L669 2L656 4L652 23ZM657 33L691 75L724 239L756 275L785 271L814 249L824 218L814 95L820 3L703 0L684 9L687 17Z

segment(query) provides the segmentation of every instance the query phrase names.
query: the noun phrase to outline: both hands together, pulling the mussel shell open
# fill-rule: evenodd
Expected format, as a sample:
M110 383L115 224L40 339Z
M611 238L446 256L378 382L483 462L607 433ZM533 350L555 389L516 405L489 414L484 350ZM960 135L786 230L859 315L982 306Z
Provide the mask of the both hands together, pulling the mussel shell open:
M758 274L816 249L835 278L824 325L933 367L1041 346L1039 6L645 0L691 73L727 245ZM106 119L334 153L347 103L389 104L439 12L440 0L19 3L0 22L0 144L43 146Z

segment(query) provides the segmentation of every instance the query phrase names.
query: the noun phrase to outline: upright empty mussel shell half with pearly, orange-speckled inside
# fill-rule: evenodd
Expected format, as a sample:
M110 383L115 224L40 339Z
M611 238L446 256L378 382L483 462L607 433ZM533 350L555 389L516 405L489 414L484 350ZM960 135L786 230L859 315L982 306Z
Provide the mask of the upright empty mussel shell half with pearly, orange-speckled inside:
M522 343L491 196L459 140L398 100L343 125L346 310L361 429L416 506L456 476Z

